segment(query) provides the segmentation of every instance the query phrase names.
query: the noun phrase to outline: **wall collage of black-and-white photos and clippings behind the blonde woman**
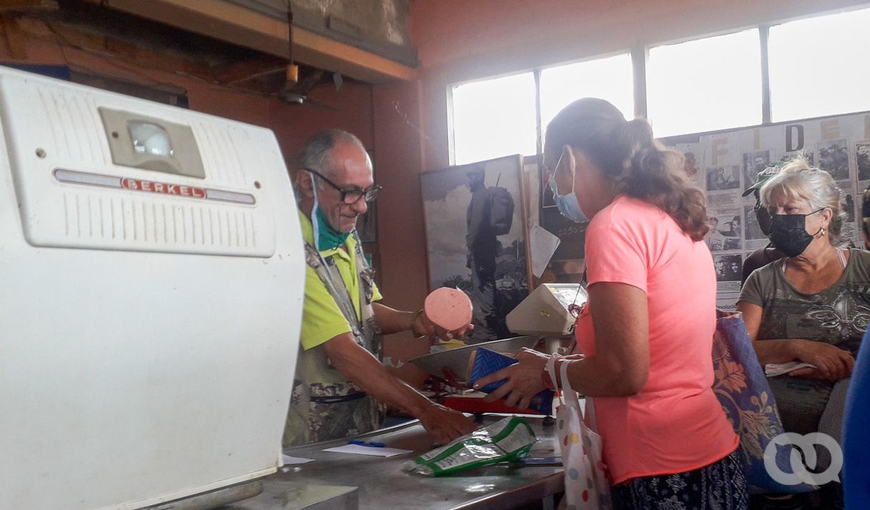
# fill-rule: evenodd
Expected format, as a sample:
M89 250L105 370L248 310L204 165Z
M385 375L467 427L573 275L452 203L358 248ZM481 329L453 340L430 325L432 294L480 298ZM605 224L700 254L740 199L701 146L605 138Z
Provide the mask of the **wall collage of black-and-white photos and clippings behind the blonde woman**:
M870 186L870 114L720 132L675 147L685 153L688 175L706 192L706 242L713 252L720 309L736 309L743 260L769 242L755 219L754 195L741 195L771 162L804 157L830 173L847 217L842 245L862 245L856 218L860 221L861 195Z

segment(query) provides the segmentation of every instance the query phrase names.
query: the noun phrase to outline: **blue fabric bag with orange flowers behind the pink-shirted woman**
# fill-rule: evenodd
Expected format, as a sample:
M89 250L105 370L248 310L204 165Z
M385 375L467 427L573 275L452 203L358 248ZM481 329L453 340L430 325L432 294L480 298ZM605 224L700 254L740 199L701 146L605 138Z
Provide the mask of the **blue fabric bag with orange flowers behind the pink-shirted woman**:
M818 487L801 483L786 486L773 480L764 465L767 445L784 433L780 413L764 369L755 355L740 312L716 311L713 333L713 393L734 431L740 435L740 452L749 493L806 493ZM779 446L776 464L793 473L793 446Z

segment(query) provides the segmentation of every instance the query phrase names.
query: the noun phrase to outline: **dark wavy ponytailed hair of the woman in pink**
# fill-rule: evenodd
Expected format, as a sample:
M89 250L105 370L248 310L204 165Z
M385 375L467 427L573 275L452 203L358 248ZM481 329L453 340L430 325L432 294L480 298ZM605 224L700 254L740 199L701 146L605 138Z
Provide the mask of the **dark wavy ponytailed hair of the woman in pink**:
M699 241L709 231L704 193L683 171L683 155L653 138L642 118L627 121L603 99L586 97L559 111L547 126L545 153L570 145L609 178L617 194L639 198L665 211Z

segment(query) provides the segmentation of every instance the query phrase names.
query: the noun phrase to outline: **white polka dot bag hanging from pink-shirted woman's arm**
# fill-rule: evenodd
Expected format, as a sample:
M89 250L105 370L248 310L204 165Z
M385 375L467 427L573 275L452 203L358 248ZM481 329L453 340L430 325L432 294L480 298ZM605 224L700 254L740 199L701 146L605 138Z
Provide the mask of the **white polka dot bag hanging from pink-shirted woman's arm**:
M601 460L601 436L586 426L577 392L568 382L567 363L561 363L561 378L556 379L555 356L547 362L552 381L561 380L559 406L556 408L556 433L565 466L565 499L561 508L566 510L610 510L610 485L606 466ZM558 388L557 388L558 389ZM586 410L592 426L595 424L592 400L586 399Z

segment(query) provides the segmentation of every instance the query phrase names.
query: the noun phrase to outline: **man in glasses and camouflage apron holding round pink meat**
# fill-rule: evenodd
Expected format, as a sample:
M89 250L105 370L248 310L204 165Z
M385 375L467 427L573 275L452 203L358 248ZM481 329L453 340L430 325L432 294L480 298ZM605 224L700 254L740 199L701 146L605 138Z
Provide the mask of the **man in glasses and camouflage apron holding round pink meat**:
M296 192L305 238L305 305L284 446L366 433L385 406L418 418L437 442L474 430L462 413L438 406L380 363L380 335L462 336L438 331L422 310L381 305L356 236L357 218L378 197L371 160L347 131L314 135L298 160Z

